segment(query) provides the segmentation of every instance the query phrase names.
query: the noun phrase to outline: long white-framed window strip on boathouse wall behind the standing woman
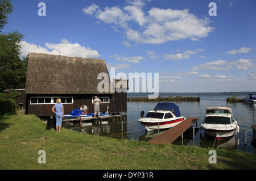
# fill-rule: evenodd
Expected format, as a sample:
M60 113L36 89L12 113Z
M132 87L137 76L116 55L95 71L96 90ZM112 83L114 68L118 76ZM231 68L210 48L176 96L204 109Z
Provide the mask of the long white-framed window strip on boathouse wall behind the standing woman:
M58 98L62 104L73 104L73 97L31 97L30 104L55 104Z

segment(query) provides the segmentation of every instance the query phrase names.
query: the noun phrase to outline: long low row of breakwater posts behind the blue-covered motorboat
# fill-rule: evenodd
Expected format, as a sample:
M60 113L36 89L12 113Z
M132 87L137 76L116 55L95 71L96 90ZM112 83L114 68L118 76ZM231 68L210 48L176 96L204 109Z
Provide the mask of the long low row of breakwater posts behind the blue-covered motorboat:
M162 101L200 101L200 97L168 97L168 98L155 98L155 99L148 99L147 97L137 97L137 98L127 98L128 102L162 102Z

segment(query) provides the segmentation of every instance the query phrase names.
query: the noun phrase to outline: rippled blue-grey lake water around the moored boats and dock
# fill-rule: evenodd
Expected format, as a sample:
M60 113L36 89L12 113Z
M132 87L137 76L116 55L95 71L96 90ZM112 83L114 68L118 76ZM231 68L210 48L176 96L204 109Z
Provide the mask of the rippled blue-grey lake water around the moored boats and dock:
M146 93L130 93L127 97L146 97ZM193 129L188 129L184 133L183 139L181 137L173 143L176 145L195 145L209 148L225 148L237 149L245 152L255 153L255 148L251 146L251 141L254 139L253 129L253 111L255 105L246 103L226 103L227 97L236 95L237 98L244 98L246 92L200 92L200 102L174 102L180 108L181 115L188 117L200 117L197 121L195 129L195 139L192 138ZM197 93L159 93L161 97L168 96L194 96ZM101 121L100 123L90 121L82 123L81 127L76 127L72 123L66 123L63 126L70 128L72 131L80 131L88 134L95 134L98 136L108 136L119 139L148 141L158 135L158 131L147 132L144 126L137 120L141 115L141 111L145 113L151 111L158 102L127 102L127 119L123 123L121 121ZM209 140L204 136L204 130L199 128L204 121L205 109L207 107L230 107L233 110L233 118L237 120L239 116L240 132L236 136L228 139L222 139L217 142L214 139ZM193 126L196 126L195 124ZM245 144L245 130L246 142Z

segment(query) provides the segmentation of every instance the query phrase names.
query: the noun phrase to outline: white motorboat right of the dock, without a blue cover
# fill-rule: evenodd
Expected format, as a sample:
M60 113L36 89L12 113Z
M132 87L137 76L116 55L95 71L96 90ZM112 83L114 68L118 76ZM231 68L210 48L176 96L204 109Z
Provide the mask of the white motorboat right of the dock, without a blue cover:
M206 110L204 123L201 124L205 134L220 139L233 136L239 132L237 121L228 107L209 107Z

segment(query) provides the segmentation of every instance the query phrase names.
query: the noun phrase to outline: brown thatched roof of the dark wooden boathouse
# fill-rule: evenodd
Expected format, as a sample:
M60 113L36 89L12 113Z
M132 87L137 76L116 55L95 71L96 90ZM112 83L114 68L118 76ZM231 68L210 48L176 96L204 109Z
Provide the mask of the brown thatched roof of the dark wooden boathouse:
M108 94L97 90L99 73L109 76L105 60L30 53L26 94Z

